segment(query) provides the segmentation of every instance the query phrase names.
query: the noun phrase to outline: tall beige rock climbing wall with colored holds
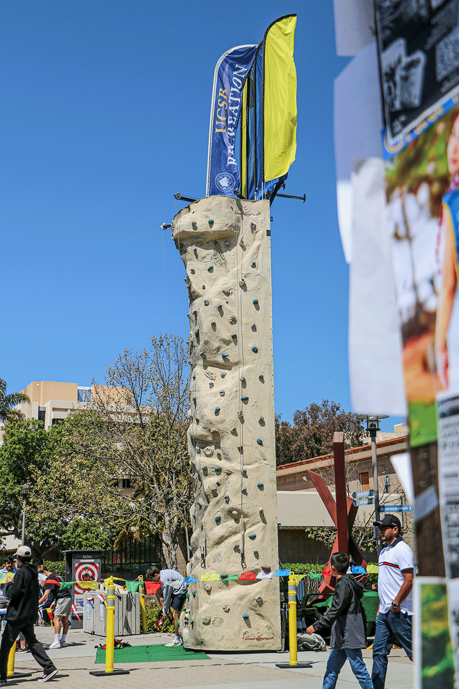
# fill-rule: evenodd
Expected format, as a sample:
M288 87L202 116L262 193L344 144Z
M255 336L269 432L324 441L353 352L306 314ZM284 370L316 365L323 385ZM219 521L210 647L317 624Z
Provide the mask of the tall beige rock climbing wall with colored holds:
M199 580L180 617L184 646L277 650L279 579L234 577L279 566L269 203L204 198L172 235L190 301L188 574Z

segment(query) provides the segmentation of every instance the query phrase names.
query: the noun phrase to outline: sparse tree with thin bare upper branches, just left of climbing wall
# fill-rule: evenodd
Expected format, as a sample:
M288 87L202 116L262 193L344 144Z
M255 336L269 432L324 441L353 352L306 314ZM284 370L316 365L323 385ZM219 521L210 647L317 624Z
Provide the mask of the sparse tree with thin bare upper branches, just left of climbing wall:
M178 535L189 520L192 491L185 371L180 337L153 336L148 350L125 350L107 369L106 385L96 385L91 432L73 439L79 456L97 457L104 471L111 467L112 478L131 480L131 495L120 495L115 546L158 534L171 567L177 567Z

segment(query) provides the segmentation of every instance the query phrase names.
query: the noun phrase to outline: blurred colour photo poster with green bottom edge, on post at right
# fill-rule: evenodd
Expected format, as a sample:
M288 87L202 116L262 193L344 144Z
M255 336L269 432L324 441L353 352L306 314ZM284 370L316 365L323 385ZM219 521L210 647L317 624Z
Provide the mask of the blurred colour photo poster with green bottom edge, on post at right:
M436 395L459 391L459 106L387 163L387 218L410 440L436 440Z

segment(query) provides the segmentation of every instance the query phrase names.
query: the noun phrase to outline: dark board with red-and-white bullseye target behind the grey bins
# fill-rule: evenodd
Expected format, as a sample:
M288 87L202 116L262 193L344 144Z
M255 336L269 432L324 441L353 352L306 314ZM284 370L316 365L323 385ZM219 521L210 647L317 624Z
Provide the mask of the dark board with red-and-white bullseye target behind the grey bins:
M101 574L103 551L64 551L65 581L66 582L98 582ZM83 629L83 612L85 588L84 584L72 586L72 597L76 612L72 611L72 628Z

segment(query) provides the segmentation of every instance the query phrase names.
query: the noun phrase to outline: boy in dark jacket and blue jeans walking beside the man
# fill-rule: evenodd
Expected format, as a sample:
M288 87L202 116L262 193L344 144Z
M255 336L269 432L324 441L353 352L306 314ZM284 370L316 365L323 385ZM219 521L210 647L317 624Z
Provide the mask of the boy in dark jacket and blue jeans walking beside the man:
M330 639L330 656L323 677L323 689L334 689L337 686L339 672L346 658L352 672L359 680L362 689L373 689L373 683L363 662L362 648L366 648L365 619L360 599L363 597L363 586L352 574L346 574L349 558L345 553L334 553L330 558L332 575L337 577L334 587L332 605L323 617L311 624L306 632L314 634L325 627L332 626Z

